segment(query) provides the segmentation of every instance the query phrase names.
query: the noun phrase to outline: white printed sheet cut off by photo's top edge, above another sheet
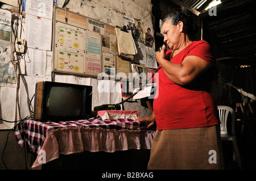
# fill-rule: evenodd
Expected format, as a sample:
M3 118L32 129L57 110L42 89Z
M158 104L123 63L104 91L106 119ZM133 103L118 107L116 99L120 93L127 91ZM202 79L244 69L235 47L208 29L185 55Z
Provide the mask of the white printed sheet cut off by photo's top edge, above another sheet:
M26 14L52 19L52 0L26 0Z

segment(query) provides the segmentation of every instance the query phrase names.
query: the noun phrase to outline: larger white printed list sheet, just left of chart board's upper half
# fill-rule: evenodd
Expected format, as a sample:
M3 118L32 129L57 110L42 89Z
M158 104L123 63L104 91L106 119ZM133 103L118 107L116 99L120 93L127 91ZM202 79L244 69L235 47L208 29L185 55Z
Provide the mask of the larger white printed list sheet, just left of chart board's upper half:
M51 50L52 20L26 14L27 47Z

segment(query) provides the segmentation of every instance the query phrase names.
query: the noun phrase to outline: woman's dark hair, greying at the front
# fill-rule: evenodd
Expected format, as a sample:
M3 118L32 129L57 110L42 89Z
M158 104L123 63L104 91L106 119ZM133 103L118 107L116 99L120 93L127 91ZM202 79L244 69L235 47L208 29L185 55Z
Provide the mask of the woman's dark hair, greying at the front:
M192 37L197 33L199 27L195 23L196 15L188 10L180 10L171 12L164 18L163 22L166 20L171 20L172 25L177 25L179 22L183 22L184 33L186 33L189 37Z

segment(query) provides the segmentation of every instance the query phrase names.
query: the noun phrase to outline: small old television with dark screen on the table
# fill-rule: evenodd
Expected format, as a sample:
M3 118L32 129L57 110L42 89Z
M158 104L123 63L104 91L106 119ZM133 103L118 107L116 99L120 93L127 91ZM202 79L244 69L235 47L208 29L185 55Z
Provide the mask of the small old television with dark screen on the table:
M92 86L38 82L34 99L34 119L41 122L81 120L92 114Z

